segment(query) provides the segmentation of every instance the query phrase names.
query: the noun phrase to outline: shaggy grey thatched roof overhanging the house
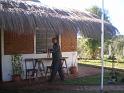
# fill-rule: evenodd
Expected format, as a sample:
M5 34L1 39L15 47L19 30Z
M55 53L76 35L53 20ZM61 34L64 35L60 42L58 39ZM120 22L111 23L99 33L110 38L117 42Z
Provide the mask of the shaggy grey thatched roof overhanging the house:
M52 9L40 3L0 1L0 28L5 31L32 32L80 31L87 37L100 38L101 20L92 14L79 11ZM112 37L116 28L105 22L105 36Z

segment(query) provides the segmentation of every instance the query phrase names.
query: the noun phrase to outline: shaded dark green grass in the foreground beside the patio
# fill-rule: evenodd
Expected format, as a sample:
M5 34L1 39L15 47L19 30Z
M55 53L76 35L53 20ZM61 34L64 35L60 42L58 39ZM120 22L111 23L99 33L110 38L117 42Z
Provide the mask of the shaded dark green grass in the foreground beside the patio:
M120 72L118 74L118 81L115 84L124 84L122 82L122 78L124 78L124 72ZM104 74L104 84L108 84L108 81L110 80L110 72L106 72ZM68 79L64 81L64 84L71 84L71 85L99 85L100 84L100 74L94 75L94 76L87 76L87 77L81 77L76 79Z

